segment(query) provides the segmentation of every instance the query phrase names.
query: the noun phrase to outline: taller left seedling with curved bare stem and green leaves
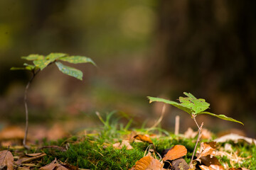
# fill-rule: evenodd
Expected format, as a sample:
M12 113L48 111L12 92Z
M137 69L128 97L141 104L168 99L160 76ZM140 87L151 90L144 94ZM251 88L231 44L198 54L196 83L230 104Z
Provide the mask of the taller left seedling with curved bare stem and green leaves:
M82 72L79 69L75 69L73 67L68 67L62 64L61 62L70 62L73 64L78 63L91 63L96 66L95 62L93 62L89 57L83 57L79 55L69 56L65 53L50 53L50 55L43 56L43 55L28 55L26 57L21 57L22 59L28 60L33 62L33 64L24 63L24 67L11 67L11 70L28 70L32 73L31 79L28 81L26 85L25 93L24 93L24 103L25 103L25 111L26 111L26 128L25 128L25 135L23 139L23 147L28 149L29 147L26 145L26 137L28 135L28 105L27 105L27 93L30 84L32 83L33 79L36 77L38 72L42 71L50 64L55 63L60 72L64 74L68 74L71 77L75 77L76 79L82 80Z

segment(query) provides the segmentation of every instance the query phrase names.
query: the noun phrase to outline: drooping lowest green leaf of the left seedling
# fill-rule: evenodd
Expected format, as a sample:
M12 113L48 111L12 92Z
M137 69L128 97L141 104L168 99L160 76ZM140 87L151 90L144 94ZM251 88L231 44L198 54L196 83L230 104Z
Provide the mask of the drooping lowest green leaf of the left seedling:
M68 74L71 77L75 77L77 79L82 80L82 72L79 69L65 66L60 62L55 62L55 64L57 65L60 72L63 72L64 74Z

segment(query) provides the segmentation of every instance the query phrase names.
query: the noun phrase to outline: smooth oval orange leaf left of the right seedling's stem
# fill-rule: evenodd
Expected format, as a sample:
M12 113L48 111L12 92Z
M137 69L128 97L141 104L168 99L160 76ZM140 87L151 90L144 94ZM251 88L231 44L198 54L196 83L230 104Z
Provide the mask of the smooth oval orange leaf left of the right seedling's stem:
M165 157L163 158L164 161L166 160L174 160L180 157L183 157L187 154L187 149L183 145L175 145L171 147Z

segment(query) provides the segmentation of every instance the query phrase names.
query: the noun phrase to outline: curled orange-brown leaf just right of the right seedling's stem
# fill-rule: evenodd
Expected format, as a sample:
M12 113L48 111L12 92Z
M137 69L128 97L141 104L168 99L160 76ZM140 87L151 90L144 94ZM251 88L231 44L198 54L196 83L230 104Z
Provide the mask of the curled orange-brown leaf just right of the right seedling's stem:
M201 142L200 152L196 160L201 162L201 157L206 157L208 154L212 154L216 149L215 145L216 142Z

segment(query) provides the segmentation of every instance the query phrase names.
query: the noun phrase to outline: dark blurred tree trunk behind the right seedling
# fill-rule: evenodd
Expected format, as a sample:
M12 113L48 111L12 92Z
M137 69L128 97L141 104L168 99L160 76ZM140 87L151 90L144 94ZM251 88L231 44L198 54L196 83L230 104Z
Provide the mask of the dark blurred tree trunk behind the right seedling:
M217 114L256 117L255 4L160 1L151 83L206 98Z

